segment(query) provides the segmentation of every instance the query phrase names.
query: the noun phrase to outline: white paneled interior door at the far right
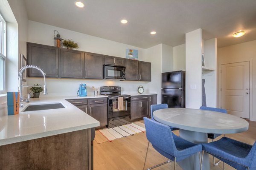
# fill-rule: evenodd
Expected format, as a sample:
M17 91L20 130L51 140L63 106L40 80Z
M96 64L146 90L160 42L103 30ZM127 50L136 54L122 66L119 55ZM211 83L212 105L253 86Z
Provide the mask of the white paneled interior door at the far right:
M221 108L249 119L250 62L221 65Z

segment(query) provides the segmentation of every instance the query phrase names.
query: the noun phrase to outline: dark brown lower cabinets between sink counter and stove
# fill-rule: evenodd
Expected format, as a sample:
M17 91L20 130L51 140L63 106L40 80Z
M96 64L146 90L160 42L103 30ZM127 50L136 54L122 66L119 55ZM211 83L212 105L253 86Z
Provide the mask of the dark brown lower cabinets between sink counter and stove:
M99 126L108 125L108 98L69 99L80 110L99 121Z

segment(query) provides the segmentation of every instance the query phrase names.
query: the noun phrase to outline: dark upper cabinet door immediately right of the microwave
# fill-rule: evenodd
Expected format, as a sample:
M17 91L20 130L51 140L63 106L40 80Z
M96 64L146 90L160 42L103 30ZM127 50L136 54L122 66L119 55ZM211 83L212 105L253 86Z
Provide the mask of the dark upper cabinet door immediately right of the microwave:
M126 80L139 80L139 61L125 59L125 67Z

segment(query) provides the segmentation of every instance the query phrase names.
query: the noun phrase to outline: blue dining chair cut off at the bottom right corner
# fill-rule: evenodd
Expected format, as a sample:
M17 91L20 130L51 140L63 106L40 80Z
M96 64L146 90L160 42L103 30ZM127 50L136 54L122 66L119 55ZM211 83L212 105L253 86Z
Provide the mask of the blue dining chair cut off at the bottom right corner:
M202 147L203 156L205 151L236 170L256 170L256 142L252 146L223 137L215 142L203 143Z

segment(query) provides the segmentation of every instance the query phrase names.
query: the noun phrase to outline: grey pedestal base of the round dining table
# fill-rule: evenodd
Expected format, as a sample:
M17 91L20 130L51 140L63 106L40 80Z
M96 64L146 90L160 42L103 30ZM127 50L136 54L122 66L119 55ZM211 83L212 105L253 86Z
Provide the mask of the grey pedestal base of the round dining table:
M193 143L208 143L207 133L180 129L180 137ZM177 164L179 164L183 170L200 170L199 154L195 153L194 155L184 159L183 161L177 162ZM209 155L205 152L202 169L210 170Z

